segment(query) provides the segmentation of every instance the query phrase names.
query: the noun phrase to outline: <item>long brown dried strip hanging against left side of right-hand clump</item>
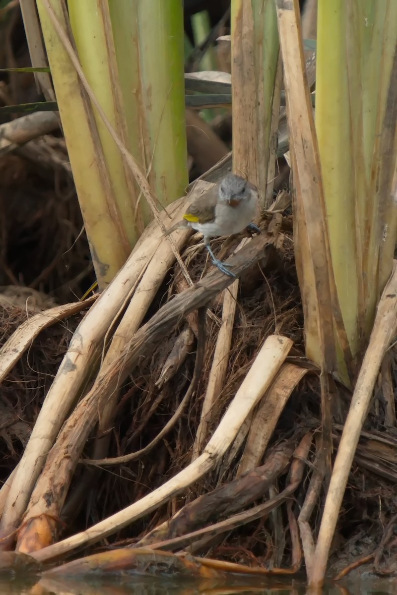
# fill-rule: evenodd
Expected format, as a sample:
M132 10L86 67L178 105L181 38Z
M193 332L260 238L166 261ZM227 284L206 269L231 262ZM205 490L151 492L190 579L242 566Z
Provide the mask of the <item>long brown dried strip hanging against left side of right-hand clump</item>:
M293 186L293 240L303 298L306 355L321 368L324 456L331 468L332 415L327 372L338 369L336 340L345 361L349 342L340 314L330 253L320 155L305 73L298 0L276 0L282 50Z

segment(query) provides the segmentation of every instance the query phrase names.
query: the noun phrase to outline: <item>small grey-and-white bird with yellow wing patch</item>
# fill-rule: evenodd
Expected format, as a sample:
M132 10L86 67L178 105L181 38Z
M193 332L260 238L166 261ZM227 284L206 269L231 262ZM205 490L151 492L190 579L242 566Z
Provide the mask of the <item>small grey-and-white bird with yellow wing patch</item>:
M224 179L192 202L187 208L182 221L167 230L166 236L176 229L192 227L204 236L204 245L210 253L212 263L222 273L236 277L215 257L210 246L210 238L232 236L245 227L260 233L260 229L251 223L258 209L258 190L253 184L236 174L227 174Z

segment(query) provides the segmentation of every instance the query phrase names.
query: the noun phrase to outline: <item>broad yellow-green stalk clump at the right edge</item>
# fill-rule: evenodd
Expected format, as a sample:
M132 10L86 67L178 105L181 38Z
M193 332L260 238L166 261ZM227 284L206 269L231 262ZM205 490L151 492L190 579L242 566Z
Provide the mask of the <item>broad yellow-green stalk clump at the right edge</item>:
M318 0L315 124L337 295L357 359L392 270L396 239L390 200L396 114L386 112L397 92L396 22L393 1ZM340 350L338 365L346 380Z

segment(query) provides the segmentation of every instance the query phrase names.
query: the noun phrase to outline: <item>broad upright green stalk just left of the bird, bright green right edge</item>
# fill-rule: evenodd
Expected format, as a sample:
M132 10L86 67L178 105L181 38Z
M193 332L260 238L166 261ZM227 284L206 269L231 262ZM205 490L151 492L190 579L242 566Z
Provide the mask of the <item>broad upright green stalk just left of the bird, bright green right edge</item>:
M110 2L129 149L160 206L185 192L187 147L180 0ZM147 224L152 213L142 199Z

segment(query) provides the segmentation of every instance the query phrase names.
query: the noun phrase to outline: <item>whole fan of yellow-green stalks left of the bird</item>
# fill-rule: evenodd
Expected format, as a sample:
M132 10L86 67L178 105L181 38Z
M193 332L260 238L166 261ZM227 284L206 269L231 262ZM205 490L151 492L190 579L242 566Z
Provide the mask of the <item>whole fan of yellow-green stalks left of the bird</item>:
M152 209L141 200L120 148L92 109L48 11L54 10L76 45L87 83L108 122L146 171L152 195L165 206L187 185L182 4L69 0L67 13L63 0L37 0L37 7L103 288L126 261Z

